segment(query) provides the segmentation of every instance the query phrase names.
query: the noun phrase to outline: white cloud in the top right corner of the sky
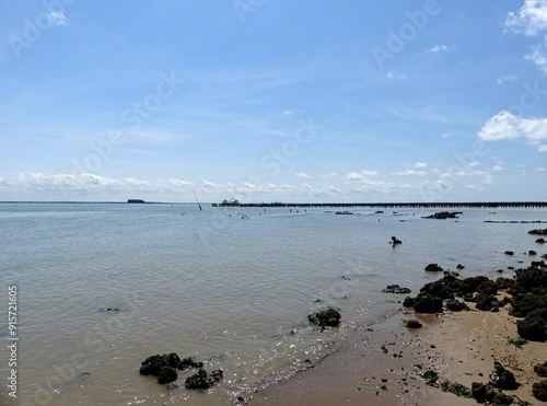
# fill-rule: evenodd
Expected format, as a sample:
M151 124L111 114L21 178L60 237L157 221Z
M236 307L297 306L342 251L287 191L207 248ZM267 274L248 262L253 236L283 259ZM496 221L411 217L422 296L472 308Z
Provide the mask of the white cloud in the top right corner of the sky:
M516 13L508 13L505 28L525 35L547 30L547 0L525 0Z

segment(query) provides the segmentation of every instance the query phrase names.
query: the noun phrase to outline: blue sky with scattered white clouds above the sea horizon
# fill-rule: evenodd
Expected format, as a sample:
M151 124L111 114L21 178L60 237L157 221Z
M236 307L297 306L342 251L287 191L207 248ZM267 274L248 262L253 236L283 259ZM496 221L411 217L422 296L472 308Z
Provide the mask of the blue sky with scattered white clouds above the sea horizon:
M547 0L0 0L0 201L547 200Z

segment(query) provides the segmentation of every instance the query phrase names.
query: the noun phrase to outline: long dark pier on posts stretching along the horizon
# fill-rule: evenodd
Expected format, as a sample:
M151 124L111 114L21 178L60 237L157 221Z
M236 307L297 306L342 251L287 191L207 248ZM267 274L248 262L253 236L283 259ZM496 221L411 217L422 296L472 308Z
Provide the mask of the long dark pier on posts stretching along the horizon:
M323 208L342 208L342 207L368 207L368 208L416 208L416 209L447 209L447 208L467 208L467 209L510 209L510 208L547 208L547 201L475 201L475 202L248 202L248 204L212 204L212 207L323 207Z

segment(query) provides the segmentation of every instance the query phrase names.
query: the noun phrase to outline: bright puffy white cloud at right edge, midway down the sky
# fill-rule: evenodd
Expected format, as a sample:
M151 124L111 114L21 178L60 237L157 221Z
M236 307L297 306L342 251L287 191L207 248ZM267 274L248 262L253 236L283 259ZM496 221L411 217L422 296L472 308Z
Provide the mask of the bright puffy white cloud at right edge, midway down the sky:
M482 126L478 137L485 141L524 138L539 152L547 152L547 146L542 144L547 141L547 118L521 118L503 111Z

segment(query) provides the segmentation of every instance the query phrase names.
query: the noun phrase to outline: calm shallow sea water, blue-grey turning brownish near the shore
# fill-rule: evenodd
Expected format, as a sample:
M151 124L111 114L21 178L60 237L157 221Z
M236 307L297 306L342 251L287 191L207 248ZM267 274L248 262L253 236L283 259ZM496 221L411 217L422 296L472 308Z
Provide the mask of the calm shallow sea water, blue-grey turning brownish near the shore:
M527 235L545 224L484 222L547 221L546 210L463 210L457 221L396 211L0 204L0 338L9 341L16 286L19 404L234 404L393 312L403 298L382 289L416 294L440 277L423 271L429 263L496 278L527 265L528 250L547 252ZM403 244L391 246L392 235ZM307 315L329 305L342 327L311 328ZM0 404L18 404L5 347ZM175 388L139 375L141 361L165 352L220 368L224 380L200 393L184 388L191 372Z

